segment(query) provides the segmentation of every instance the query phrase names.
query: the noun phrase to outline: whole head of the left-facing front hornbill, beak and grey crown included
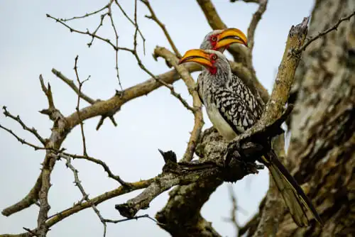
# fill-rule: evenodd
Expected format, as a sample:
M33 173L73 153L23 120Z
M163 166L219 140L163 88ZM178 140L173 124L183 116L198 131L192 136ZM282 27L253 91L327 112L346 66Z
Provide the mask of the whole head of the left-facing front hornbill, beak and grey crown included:
M216 50L188 50L182 56L179 64L184 62L197 62L207 68L212 75L219 72L229 72L231 67L223 53Z

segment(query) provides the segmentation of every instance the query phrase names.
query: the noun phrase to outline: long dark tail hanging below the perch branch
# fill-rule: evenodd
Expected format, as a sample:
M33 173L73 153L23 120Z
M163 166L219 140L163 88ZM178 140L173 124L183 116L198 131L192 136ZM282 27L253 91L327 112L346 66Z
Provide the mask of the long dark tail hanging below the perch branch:
M278 156L271 149L261 158L264 165L268 167L273 176L276 186L283 194L285 204L288 206L293 220L297 226L308 226L307 210L311 211L315 219L322 225L320 215L317 213L315 206L303 192L302 188L297 184L296 180L290 175L285 166L278 160Z

